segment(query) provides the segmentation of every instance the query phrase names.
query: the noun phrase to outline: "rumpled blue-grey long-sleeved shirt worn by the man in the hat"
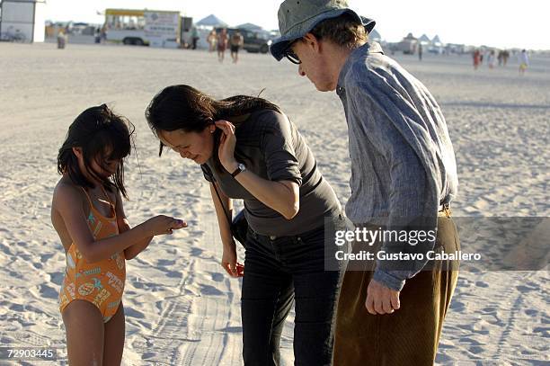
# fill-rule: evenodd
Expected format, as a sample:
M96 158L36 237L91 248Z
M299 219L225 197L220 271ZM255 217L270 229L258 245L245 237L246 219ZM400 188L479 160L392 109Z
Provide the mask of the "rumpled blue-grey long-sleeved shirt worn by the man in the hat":
M425 225L436 228L441 205L457 194L458 179L447 123L428 89L373 42L351 52L336 93L350 139L348 218L356 226L390 229L423 218ZM389 246L383 243L382 250L396 251ZM373 278L402 290L404 281L426 262L395 271L378 261Z

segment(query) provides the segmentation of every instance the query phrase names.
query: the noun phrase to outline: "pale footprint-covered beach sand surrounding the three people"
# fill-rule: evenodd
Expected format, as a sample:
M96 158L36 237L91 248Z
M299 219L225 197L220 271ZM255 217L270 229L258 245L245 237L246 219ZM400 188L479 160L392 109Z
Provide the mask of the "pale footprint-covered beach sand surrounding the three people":
M67 363L58 311L65 254L49 219L56 159L75 116L109 103L136 126L137 151L126 171L130 223L156 214L189 223L128 262L123 364L242 364L240 283L218 264L208 184L191 161L173 152L158 157L146 105L174 84L217 98L263 90L297 124L345 205L350 162L342 103L334 93L317 93L295 65L267 55L244 53L234 65L228 53L219 64L202 50L55 47L0 43L0 347L57 348L52 364ZM469 55L395 58L428 86L446 116L460 183L453 214L549 217L550 58L534 56L523 77L515 58L508 67L477 71ZM243 248L239 254L242 260ZM437 363L549 364L547 269L462 272ZM292 319L281 344L286 365L294 361Z

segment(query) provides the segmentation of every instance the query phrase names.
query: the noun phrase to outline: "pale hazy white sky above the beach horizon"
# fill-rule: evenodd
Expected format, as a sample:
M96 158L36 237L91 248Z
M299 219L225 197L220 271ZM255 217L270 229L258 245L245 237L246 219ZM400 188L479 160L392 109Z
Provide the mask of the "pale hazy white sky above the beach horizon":
M214 13L229 25L253 22L277 29L280 0L46 0L52 21L103 22L105 8L178 10L195 22ZM385 40L436 34L443 42L550 49L547 0L349 0L350 7L377 21Z

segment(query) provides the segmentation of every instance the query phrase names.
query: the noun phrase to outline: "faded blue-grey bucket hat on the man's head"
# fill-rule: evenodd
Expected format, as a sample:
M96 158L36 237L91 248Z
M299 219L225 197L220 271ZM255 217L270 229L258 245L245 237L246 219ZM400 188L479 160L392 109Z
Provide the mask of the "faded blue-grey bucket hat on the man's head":
M346 0L285 0L279 7L280 37L271 43L271 55L278 61L283 58L285 50L293 40L297 40L313 30L315 25L324 20L349 13L370 32L376 22L359 16L348 7Z

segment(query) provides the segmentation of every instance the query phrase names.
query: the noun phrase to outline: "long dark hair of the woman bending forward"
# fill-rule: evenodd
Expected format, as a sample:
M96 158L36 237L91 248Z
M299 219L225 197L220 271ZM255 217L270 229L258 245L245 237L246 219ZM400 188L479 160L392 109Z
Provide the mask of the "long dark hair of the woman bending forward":
M145 115L147 123L156 137L159 131L183 129L185 132L202 132L218 120L229 120L231 117L246 113L273 110L280 112L279 107L265 99L235 95L222 100L200 92L189 85L172 85L164 88L147 106ZM221 130L214 133L214 152L217 152ZM164 144L160 142L158 156L163 154ZM217 154L213 154L217 167Z

